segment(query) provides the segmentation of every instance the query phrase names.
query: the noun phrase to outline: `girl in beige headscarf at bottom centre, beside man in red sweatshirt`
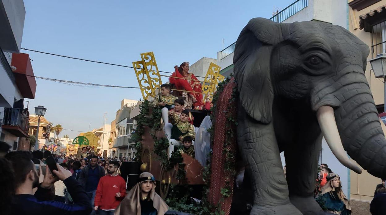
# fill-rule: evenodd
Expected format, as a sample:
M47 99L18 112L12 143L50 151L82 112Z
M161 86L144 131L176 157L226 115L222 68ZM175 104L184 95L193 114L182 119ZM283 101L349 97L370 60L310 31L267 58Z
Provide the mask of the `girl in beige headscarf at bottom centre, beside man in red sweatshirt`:
M164 215L169 207L155 189L154 176L149 172L141 173L138 183L127 193L115 215Z

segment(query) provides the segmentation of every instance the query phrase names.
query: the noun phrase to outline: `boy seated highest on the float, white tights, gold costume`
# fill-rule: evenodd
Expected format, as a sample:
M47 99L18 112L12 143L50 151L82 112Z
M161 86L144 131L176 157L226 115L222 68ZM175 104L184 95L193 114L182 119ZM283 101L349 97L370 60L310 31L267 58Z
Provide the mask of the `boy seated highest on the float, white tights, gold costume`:
M159 107L162 109L162 119L165 124L169 122L168 112L169 110L173 109L174 101L176 99L177 97L170 95L170 85L164 83L161 85L161 93L159 93L151 102L153 107Z

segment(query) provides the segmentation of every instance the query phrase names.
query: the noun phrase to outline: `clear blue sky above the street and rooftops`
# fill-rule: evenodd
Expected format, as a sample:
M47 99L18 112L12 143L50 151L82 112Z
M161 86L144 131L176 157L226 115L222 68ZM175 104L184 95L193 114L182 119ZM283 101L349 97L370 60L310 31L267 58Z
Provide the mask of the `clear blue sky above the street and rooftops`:
M274 7L295 0L24 0L22 47L78 58L132 65L140 53L154 52L161 71L173 72L184 61L217 58L217 52L236 41L254 17L270 18ZM138 87L131 68L83 62L22 50L29 53L36 76ZM86 131L107 123L124 98L138 100L139 89L85 88L36 79L30 100L48 108L45 117L70 130ZM63 130L60 137L79 132Z

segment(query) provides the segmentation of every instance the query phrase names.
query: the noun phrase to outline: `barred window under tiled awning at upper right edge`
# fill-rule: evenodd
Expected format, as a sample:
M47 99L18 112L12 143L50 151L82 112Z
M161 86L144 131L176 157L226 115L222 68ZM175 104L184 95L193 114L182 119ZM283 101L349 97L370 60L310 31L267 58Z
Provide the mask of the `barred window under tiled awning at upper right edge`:
M386 21L372 26L371 53L372 58L376 58L381 53L386 53Z

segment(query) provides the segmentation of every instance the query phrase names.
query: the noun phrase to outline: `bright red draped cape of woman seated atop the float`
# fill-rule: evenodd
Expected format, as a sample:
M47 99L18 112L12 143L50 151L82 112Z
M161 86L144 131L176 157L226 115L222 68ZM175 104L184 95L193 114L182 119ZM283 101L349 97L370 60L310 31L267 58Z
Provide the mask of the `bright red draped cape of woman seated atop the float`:
M173 78L178 77L178 78ZM191 80L185 80L181 78L187 78ZM176 69L176 71L173 72L171 77L169 78L169 82L174 84L177 88L177 90L186 90L190 91L189 94L193 95L197 102L194 104L195 106L201 106L203 105L202 100L202 90L201 90L201 84L198 81L198 79L193 75L193 73L189 73L188 77L183 77L181 73ZM192 93L192 92L199 92L199 93Z

